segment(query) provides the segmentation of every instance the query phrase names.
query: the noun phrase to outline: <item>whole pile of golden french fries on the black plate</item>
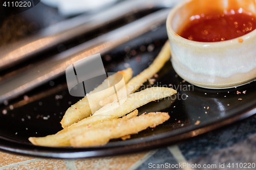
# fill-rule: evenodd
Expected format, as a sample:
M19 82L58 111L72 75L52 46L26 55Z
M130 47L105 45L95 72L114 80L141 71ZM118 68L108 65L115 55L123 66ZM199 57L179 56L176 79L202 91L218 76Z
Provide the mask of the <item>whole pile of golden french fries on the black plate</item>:
M63 130L59 131L58 133L54 135L48 135L46 137L30 137L29 140L35 144L40 146L46 146L46 147L68 147L71 145L70 142L72 142L72 145L74 147L80 147L80 146L93 146L93 145L103 145L106 142L108 142L112 138L119 138L123 137L123 139L129 138L130 134L137 133L141 130L146 129L148 126L156 126L158 124L163 123L165 119L167 120L169 118L168 113L151 113L146 114L149 116L149 120L152 124L144 123L144 115L139 116L139 119L137 119L138 110L135 110L136 108L145 105L149 102L159 100L162 98L166 98L167 96L173 95L177 93L176 90L172 88L166 88L166 87L152 87L147 88L145 90L135 92L139 87L149 78L151 78L156 72L158 72L162 66L165 64L167 60L169 60L170 56L170 49L169 45L166 42L163 49L161 50L160 54L157 56L153 64L141 72L140 75L136 76L132 80L132 69L127 68L120 73L123 75L124 82L128 82L126 86L117 86L116 84L118 82L115 81L115 75L110 76L108 79L104 80L104 82L99 85L97 88L95 88L92 92L94 103L97 103L96 106L97 111L93 114L91 111L91 107L89 106L89 95L84 97L82 100L77 102L75 105L71 106L63 119L61 120L61 125ZM104 86L108 85L113 86L115 85L118 94L118 100L116 100L117 96L115 91L112 90L112 93L110 91L106 93L101 93L101 95L97 96L96 93L99 91L102 91L105 89ZM113 95L112 95L113 94ZM107 98L110 96L110 98ZM120 96L125 96L124 98L120 98ZM107 100L103 100L107 98ZM103 102L103 101L104 102ZM110 103L114 101L113 103ZM100 103L104 103L104 106L100 108ZM107 104L109 103L109 104ZM97 108L98 107L98 108ZM94 108L95 109L95 108ZM98 110L99 109L99 110ZM133 111L134 110L134 111ZM131 112L133 111L133 112ZM130 114L127 114L131 112ZM90 116L93 114L92 116ZM126 116L124 116L127 114ZM155 116L156 114L156 117ZM163 116L162 114L165 114ZM167 115L166 115L167 114ZM159 116L160 115L160 116ZM124 116L124 117L122 117ZM87 118L86 118L87 117ZM122 118L118 118L122 117ZM136 118L135 123L141 124L139 126L135 126L135 128L129 128L131 123L123 124L124 122L127 122L131 118ZM142 119L143 117L144 119ZM154 118L153 118L154 117ZM161 119L162 118L162 119ZM152 120L155 119L155 122L153 123ZM80 121L79 121L80 120ZM159 121L158 121L159 120ZM162 122L160 121L162 120ZM79 121L79 122L78 122ZM137 121L137 122L136 122ZM76 123L77 122L77 123ZM147 122L147 121L145 121ZM121 133L121 131L117 131L117 133L109 134L108 135L102 135L102 139L99 139L99 141L92 143L92 140L86 143L83 143L81 140L86 134L90 134L92 131L99 131L103 129L110 129L113 127L116 127L118 129L118 125L122 125L122 128L124 129L124 132ZM125 130L125 126L128 126ZM80 136L80 137L79 137ZM96 139L96 138L95 138Z

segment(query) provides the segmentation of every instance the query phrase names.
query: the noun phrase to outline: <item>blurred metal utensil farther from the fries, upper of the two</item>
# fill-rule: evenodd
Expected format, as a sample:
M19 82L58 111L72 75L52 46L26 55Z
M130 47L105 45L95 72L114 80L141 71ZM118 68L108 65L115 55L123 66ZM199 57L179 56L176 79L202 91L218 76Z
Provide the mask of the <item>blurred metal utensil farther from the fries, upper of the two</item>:
M30 57L78 35L100 28L131 13L151 8L173 7L177 1L123 1L94 15L80 15L61 21L22 41L0 48L0 70L16 65Z

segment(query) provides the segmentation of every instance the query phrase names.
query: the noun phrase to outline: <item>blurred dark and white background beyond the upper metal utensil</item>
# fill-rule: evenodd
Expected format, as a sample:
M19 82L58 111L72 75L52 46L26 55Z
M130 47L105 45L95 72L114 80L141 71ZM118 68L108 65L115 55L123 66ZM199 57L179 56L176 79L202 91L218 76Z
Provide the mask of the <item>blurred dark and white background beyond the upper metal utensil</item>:
M10 44L54 23L75 17L79 14L95 14L119 3L117 0L43 0L27 7L15 7L15 1L1 2L0 45ZM9 3L8 3L9 2ZM14 7L12 2L14 2ZM20 1L16 1L20 2ZM22 1L31 2L31 1ZM6 6L3 6L3 5ZM9 4L9 8L8 8ZM23 5L24 6L24 5ZM25 11L26 10L26 11ZM23 12L24 11L24 12ZM90 17L90 16L88 16Z

